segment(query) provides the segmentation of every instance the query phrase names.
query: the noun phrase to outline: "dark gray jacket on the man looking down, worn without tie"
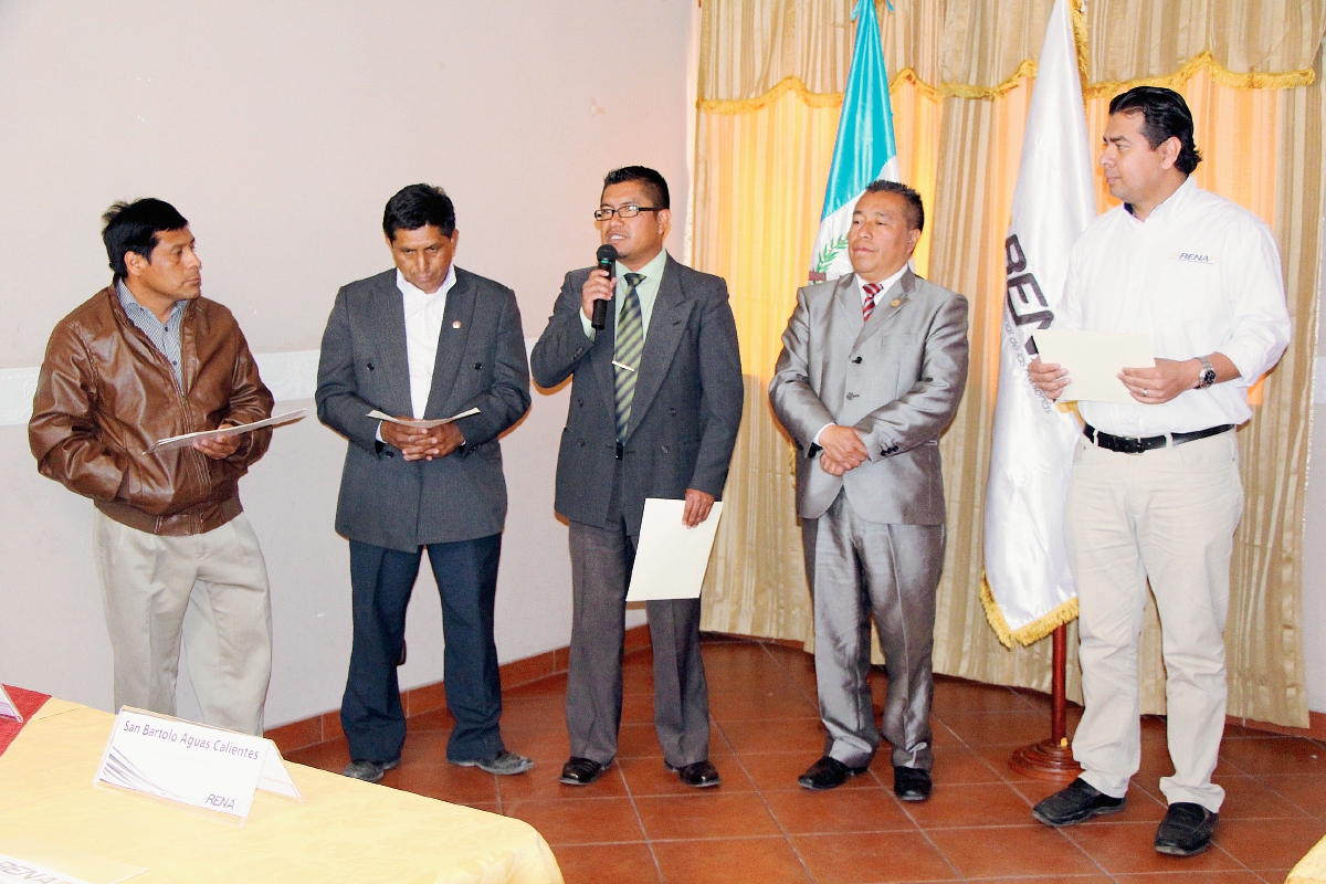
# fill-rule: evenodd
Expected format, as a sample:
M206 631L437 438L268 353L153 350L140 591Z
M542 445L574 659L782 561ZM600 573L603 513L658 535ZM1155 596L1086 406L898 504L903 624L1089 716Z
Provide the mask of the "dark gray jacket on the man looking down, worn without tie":
M459 327L455 327L459 323ZM412 414L406 317L396 272L343 286L322 335L318 419L350 440L335 530L362 543L412 551L488 537L507 518L497 436L529 410L529 364L516 294L456 268L438 338L424 417L479 408L457 427L463 451L407 461L377 440L377 408Z

